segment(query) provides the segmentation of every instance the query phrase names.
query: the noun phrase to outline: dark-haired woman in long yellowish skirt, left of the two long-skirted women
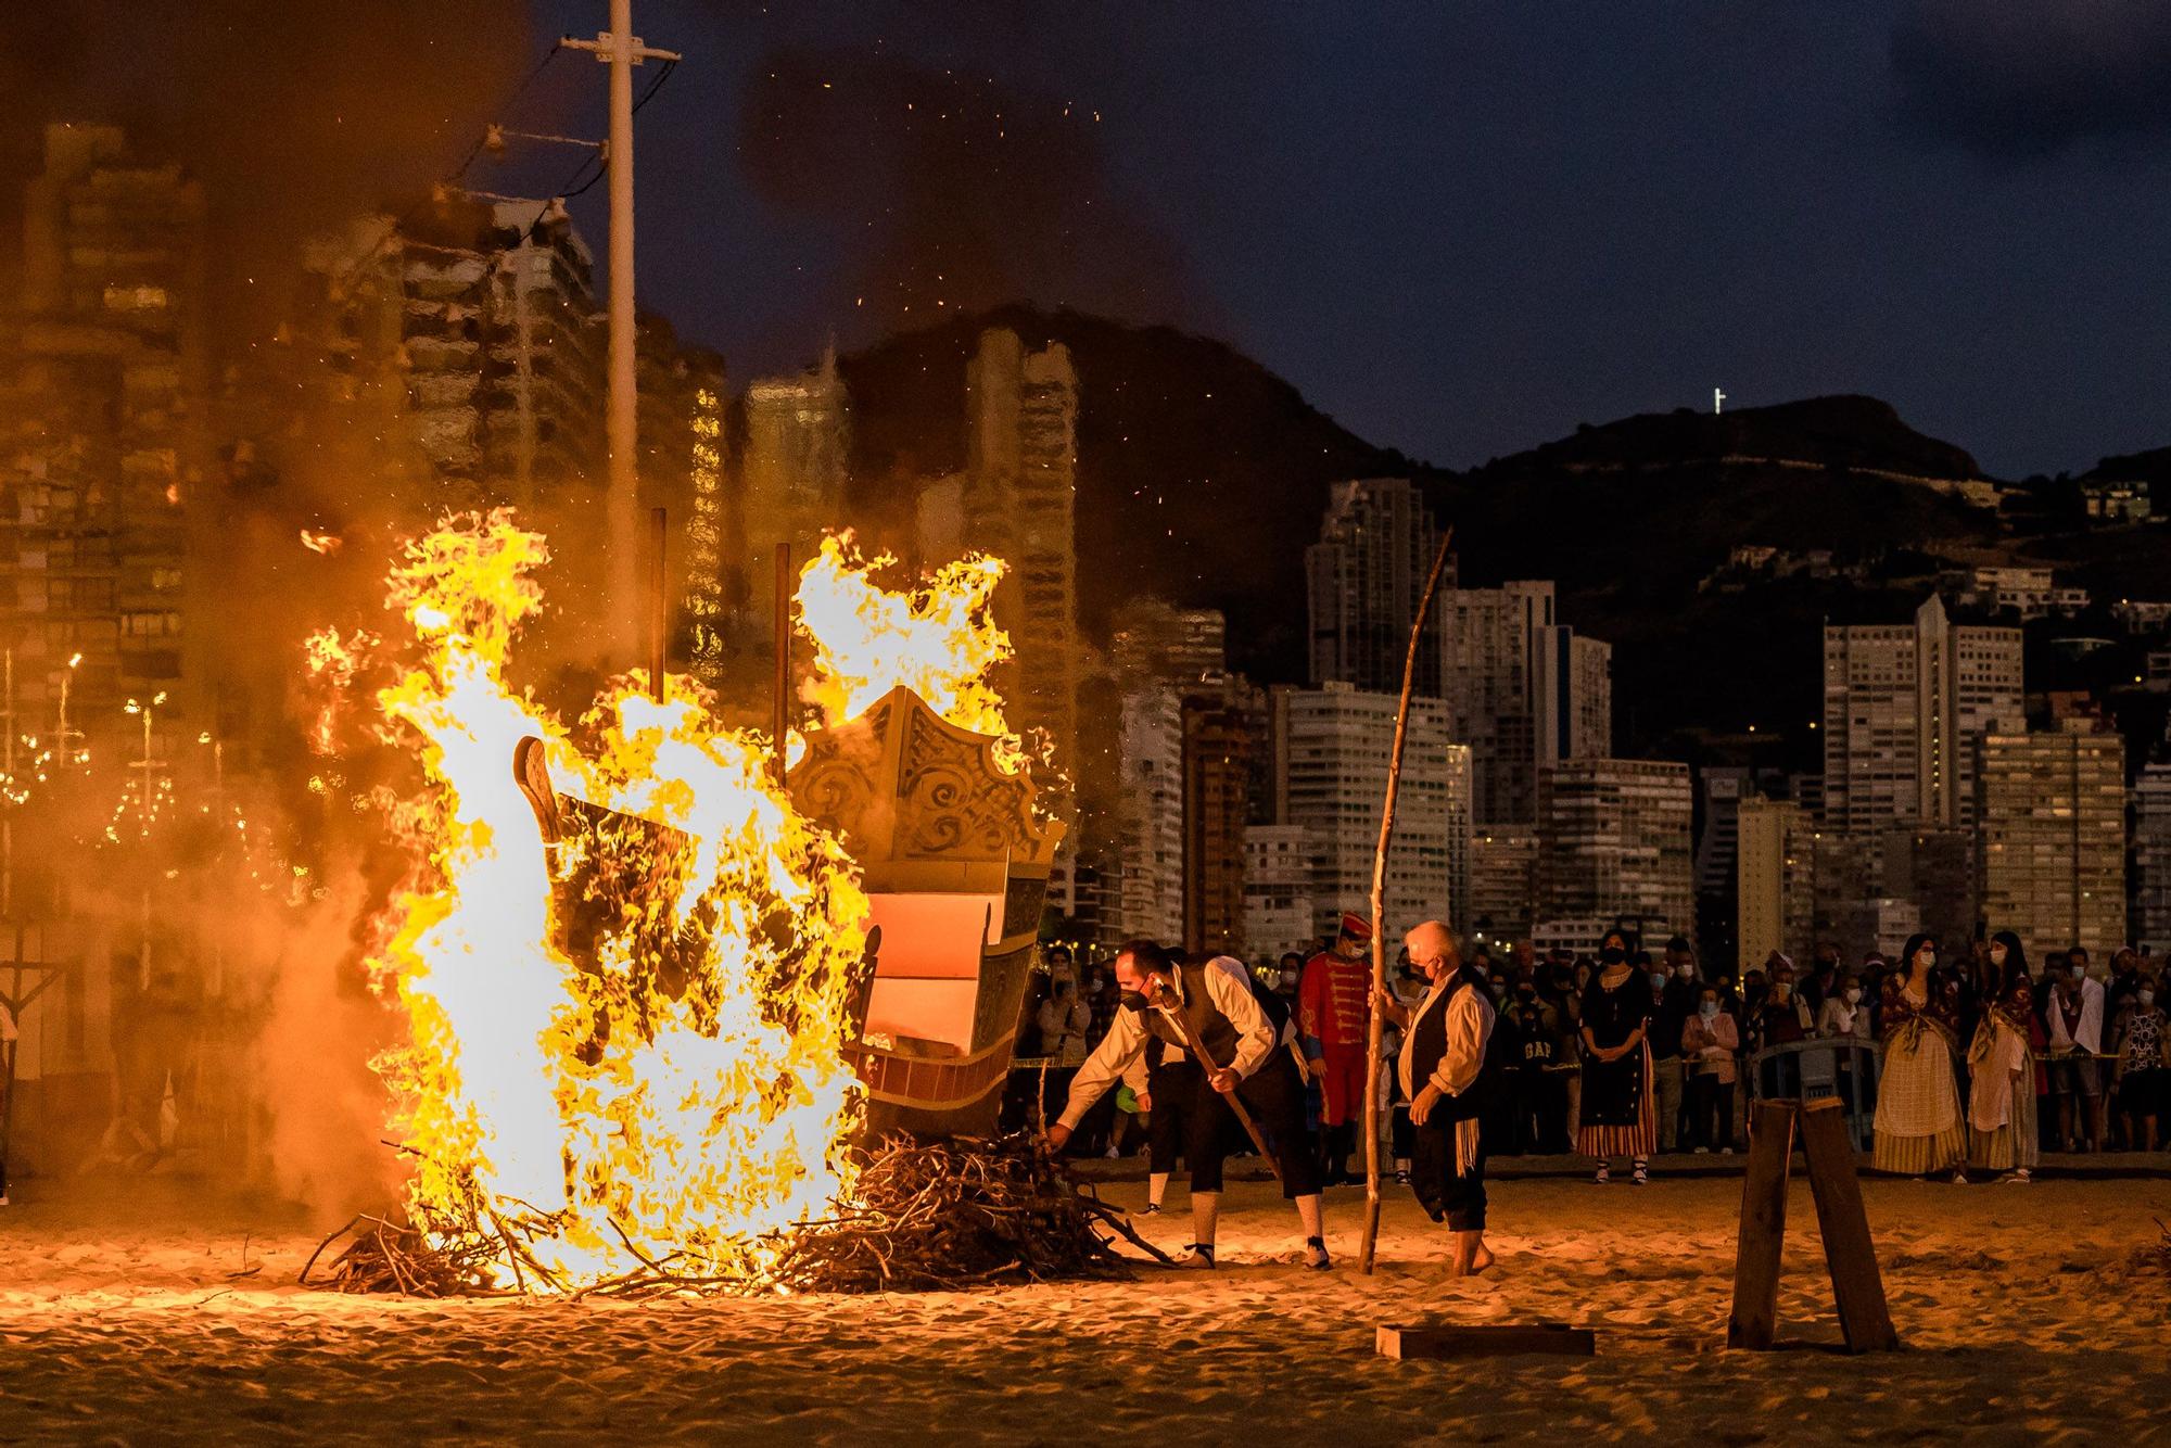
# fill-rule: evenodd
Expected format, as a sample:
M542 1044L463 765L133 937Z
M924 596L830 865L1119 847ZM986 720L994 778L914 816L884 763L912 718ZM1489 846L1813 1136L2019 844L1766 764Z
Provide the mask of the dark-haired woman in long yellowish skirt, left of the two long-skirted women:
M1967 1127L1952 1072L1958 1051L1954 1012L1932 979L1937 940L1910 936L1900 955L1900 988L1884 1016L1884 1075L1878 1079L1876 1153L1880 1172L1967 1181Z

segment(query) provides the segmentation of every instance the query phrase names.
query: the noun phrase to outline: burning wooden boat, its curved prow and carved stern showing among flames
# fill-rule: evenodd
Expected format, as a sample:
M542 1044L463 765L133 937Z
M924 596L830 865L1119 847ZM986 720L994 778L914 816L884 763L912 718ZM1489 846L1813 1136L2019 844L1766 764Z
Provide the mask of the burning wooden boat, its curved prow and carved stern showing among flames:
M947 723L910 688L805 740L786 788L851 851L871 903L851 1049L868 1129L986 1135L1064 827L1036 812L1031 775L1005 771L992 736ZM558 949L593 960L604 936L630 933L627 957L677 994L703 949L703 923L671 914L686 836L556 792L541 740L521 740L512 773L545 844L571 851L551 866Z

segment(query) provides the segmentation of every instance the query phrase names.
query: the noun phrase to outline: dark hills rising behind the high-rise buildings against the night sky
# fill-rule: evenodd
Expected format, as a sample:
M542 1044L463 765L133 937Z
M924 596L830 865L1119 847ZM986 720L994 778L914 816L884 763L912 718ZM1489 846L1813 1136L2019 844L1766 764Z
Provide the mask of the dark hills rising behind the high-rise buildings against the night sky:
M855 408L855 504L875 532L910 525L918 480L964 467L964 367L988 326L1033 347L1062 341L1079 373L1088 634L1099 638L1135 590L1218 606L1233 664L1261 679L1305 677L1303 554L1342 478L1418 480L1457 528L1465 584L1557 580L1563 621L1615 643L1622 753L1756 723L1763 738L1791 734L1806 762L1826 621L1906 619L1939 558L2041 545L2008 538L1989 510L1939 486L1982 471L1876 397L1628 417L1450 473L1350 434L1224 343L1027 306L840 360ZM1871 577L1700 588L1737 545L1830 551L1871 564Z

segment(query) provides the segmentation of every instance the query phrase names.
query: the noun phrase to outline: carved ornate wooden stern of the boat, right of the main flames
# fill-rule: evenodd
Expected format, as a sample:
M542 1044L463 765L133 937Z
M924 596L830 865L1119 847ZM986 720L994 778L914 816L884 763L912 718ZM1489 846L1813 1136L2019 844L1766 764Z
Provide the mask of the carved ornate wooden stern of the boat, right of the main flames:
M868 1127L986 1135L1001 1107L1049 866L1064 838L996 740L910 688L808 736L786 788L864 873L875 970L855 1068Z

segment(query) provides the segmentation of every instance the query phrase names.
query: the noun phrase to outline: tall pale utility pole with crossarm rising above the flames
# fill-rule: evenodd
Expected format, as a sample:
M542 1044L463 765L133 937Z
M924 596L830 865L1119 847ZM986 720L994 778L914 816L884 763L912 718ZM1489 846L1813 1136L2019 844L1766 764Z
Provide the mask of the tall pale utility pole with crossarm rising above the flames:
M567 37L610 65L610 493L604 501L606 617L627 619L640 595L640 497L634 473L638 410L634 402L634 65L677 61L634 35L634 0L610 0L610 28L593 41ZM623 634L621 634L623 638Z

